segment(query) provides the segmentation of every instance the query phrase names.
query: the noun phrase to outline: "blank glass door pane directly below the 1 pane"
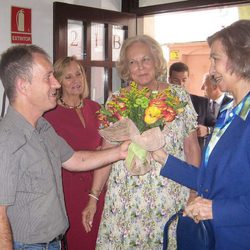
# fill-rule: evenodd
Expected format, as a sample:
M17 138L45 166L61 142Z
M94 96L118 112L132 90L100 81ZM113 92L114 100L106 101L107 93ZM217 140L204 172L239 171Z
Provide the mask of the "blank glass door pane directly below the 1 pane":
M104 103L105 72L103 67L91 68L91 99Z

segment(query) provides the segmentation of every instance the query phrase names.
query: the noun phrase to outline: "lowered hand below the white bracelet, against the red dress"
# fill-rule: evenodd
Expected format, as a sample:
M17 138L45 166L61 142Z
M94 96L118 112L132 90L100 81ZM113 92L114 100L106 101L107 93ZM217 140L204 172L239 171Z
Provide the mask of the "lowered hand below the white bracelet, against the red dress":
M87 233L92 229L96 206L97 200L90 197L87 206L82 211L82 224Z

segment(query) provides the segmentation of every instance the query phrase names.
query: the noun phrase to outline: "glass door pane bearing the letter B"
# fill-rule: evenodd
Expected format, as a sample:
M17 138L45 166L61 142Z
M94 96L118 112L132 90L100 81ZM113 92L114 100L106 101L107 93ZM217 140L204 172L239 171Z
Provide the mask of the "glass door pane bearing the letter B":
M122 43L125 38L125 30L122 26L114 25L112 30L112 61L119 58Z

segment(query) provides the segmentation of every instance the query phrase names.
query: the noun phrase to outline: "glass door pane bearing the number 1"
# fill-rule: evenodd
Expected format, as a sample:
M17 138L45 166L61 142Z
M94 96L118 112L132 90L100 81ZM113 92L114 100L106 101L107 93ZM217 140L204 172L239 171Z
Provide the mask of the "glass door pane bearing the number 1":
M105 26L103 23L91 24L91 60L105 60Z

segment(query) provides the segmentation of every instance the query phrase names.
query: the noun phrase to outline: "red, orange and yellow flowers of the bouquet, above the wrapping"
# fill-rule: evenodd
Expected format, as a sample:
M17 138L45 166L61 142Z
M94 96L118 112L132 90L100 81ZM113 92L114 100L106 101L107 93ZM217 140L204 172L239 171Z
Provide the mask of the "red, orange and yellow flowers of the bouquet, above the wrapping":
M121 89L119 94L113 94L99 113L101 127L108 127L123 117L130 118L142 133L166 122L173 121L177 114L183 112L186 102L182 102L177 92L167 88L158 93L148 88L138 89L135 82L128 88Z

